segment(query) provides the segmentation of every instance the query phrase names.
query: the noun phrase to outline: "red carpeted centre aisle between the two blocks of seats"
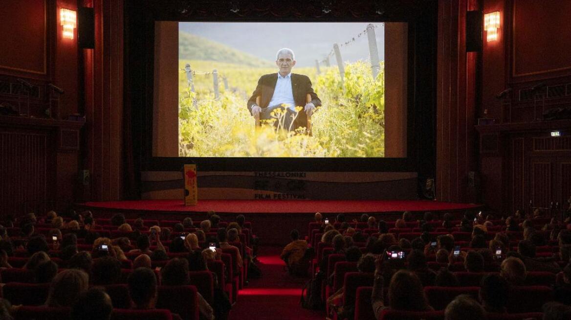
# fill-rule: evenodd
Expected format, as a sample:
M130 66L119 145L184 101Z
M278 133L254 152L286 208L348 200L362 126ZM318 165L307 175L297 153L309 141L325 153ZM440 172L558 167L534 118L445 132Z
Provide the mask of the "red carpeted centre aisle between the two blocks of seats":
M303 309L301 287L308 278L294 278L284 271L281 248L260 248L258 260L263 276L250 280L230 311L231 320L323 320L325 311Z

